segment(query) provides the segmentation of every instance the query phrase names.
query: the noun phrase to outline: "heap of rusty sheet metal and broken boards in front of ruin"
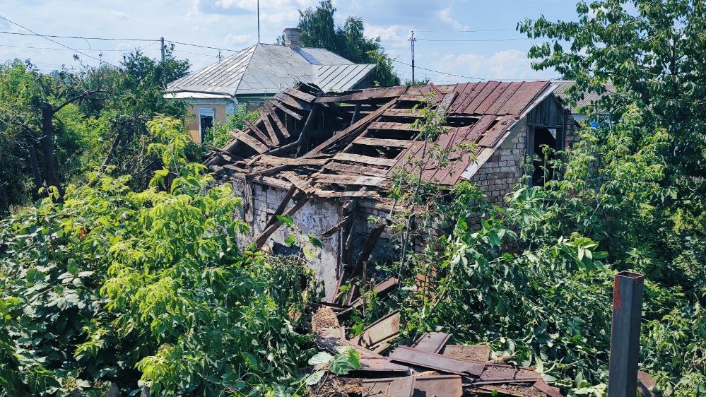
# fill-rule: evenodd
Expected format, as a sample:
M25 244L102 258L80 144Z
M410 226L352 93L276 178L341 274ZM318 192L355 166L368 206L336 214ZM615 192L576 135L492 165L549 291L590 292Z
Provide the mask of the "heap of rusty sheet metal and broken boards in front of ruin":
M319 348L336 353L343 347L360 354L360 369L345 377L329 377L327 386L339 395L365 396L517 396L560 397L530 368L506 365L512 357L490 360L489 345L449 345L451 335L425 333L411 346L390 348L399 336L400 316L394 312L371 324L360 336L346 339L345 330L329 306L312 316L312 331ZM318 392L314 390L314 393Z

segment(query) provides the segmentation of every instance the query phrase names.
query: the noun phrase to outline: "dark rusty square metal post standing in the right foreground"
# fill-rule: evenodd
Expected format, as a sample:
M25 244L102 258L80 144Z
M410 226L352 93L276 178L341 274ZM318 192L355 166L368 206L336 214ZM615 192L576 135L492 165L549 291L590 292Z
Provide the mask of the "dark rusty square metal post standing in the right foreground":
M613 323L608 373L608 397L633 397L637 389L640 355L642 287L645 277L621 271L613 283Z

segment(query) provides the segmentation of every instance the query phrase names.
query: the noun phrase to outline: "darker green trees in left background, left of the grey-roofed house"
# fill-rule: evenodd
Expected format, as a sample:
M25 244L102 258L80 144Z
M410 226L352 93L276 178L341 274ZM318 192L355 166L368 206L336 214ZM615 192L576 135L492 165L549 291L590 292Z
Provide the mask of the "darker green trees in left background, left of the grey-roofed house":
M108 165L132 174L132 186L145 186L158 167L146 155L146 122L157 114L185 116L184 104L165 99L164 90L188 69L170 50L165 62L134 52L117 68L51 75L20 61L0 66L0 213L37 196L51 180L49 167L57 169L60 190L86 183L90 172ZM42 142L46 109L53 130L48 147Z

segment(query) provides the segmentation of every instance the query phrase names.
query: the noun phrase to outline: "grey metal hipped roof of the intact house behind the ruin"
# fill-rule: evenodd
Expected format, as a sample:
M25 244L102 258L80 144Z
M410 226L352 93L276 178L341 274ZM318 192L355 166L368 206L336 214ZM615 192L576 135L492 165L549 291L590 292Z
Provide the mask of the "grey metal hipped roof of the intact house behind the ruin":
M275 94L298 81L326 91L345 91L363 80L374 64L354 64L321 48L291 49L257 44L167 85L167 92L230 95Z

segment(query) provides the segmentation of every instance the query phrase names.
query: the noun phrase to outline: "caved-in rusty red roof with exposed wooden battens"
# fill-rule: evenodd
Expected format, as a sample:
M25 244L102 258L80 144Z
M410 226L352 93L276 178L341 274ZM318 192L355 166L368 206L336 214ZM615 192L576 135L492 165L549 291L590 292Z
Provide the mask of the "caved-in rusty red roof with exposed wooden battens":
M554 88L548 81L488 81L326 95L300 83L275 95L244 131L232 131L233 141L213 150L206 165L284 189L293 184L320 198L382 198L396 167L429 152L414 122L432 97L446 109L446 131L433 144L448 161L445 167L429 161L423 178L452 186L472 177Z

